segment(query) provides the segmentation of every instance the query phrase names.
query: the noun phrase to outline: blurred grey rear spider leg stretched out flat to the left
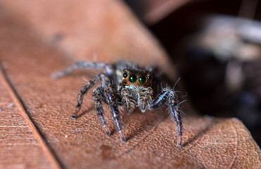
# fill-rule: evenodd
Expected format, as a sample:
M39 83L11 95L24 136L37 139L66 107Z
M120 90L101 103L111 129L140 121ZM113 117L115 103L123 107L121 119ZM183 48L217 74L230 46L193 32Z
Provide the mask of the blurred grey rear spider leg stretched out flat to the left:
M106 69L106 73L108 75L111 75L113 72L113 68L111 68L110 65L108 65L107 63L95 63L95 62L88 62L88 61L79 61L77 63L75 63L74 65L70 65L68 68L66 68L65 70L58 72L58 73L53 73L51 75L51 77L53 79L57 79L60 77L63 77L65 75L68 75L69 73L71 73L73 70L77 70L79 68L96 68L96 69L102 69L105 68Z

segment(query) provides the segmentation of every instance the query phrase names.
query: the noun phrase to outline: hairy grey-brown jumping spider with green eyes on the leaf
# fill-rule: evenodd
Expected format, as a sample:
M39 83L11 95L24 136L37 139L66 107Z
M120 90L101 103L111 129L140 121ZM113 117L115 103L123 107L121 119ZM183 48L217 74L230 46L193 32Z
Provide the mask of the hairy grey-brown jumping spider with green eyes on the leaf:
M119 106L124 106L127 113L132 113L134 108L138 107L144 113L151 108L157 108L166 104L169 109L170 118L177 123L178 146L182 146L182 117L179 110L179 97L174 87L165 87L159 90L161 77L157 73L155 67L142 68L139 65L129 62L117 62L113 64L92 63L80 61L75 63L62 72L54 73L53 78L63 77L72 70L78 68L95 68L105 69L104 73L96 75L82 89L79 90L77 98L77 106L72 118L77 118L77 115L82 106L84 94L87 94L91 87L94 87L99 80L101 85L96 87L93 92L94 107L96 114L101 120L104 130L107 135L110 135L106 119L103 116L103 102L108 104L110 113L115 121L116 130L120 133L122 142L126 142L125 134L122 131L122 120Z

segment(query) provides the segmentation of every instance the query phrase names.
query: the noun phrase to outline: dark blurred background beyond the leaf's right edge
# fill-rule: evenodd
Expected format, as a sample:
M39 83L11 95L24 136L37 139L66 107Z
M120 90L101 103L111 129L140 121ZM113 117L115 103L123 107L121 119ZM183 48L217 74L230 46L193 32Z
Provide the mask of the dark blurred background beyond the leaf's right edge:
M236 117L261 145L261 1L125 0L167 50L198 113Z

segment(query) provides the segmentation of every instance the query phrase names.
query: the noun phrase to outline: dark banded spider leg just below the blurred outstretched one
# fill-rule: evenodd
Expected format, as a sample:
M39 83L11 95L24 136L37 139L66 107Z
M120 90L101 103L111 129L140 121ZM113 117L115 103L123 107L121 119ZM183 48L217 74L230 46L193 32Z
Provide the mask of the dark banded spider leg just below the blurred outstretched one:
M96 75L96 77L94 79L90 80L84 87L79 89L77 105L75 107L75 112L72 115L72 119L77 118L77 115L78 115L79 111L81 110L84 94L87 94L89 89L91 89L91 87L94 87L94 85L98 82L98 80L101 80L102 83L105 82L106 80L103 80L104 77L106 77L106 75L104 75L103 73Z

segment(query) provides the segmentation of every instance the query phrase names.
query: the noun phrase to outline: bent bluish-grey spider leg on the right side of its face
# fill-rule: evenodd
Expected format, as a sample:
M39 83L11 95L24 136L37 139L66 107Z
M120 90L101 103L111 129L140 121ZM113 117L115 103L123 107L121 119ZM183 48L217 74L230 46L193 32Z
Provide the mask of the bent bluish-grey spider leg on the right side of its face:
M182 146L182 118L181 111L179 111L178 96L174 89L170 87L165 87L158 96L151 102L150 107L155 108L163 104L169 106L170 118L177 123L177 133L178 133L178 146Z

